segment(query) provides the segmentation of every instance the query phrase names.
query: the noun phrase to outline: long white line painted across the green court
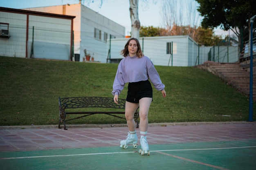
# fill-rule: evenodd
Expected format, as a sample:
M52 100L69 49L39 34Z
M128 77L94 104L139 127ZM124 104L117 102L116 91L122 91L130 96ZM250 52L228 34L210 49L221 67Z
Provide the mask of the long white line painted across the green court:
M242 147L231 147L231 148L150 150L150 152L189 151L189 150L220 150L220 149L238 149L238 148L256 148L256 146L242 146ZM104 155L104 154L121 154L121 153L134 153L134 152L103 152L103 153L85 153L85 154L73 154L73 155L46 155L46 156L34 156L34 157L10 157L10 158L0 158L0 159L25 159L25 158L46 158L46 157L73 157L73 156Z

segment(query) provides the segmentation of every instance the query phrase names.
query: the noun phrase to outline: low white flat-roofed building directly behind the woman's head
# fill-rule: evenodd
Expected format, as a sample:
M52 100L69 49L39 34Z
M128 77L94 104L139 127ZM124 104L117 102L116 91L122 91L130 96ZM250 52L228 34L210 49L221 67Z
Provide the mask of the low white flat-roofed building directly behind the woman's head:
M124 49L127 41L127 38L111 39L111 42L108 40L112 62L123 58L120 51ZM141 37L139 42L144 55L149 57L154 65L195 66L198 61L198 44L188 35Z

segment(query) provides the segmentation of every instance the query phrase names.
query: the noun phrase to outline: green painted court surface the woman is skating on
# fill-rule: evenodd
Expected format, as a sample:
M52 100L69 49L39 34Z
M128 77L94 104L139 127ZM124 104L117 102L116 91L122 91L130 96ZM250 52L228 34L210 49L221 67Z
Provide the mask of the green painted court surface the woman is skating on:
M0 152L1 170L255 170L256 140Z

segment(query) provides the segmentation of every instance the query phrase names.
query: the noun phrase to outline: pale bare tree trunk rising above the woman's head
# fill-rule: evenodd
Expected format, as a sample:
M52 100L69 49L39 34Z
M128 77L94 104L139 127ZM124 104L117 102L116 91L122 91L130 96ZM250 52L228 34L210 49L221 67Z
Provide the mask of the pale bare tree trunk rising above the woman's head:
M131 38L139 40L139 15L138 15L139 0L130 0L130 18L132 23Z

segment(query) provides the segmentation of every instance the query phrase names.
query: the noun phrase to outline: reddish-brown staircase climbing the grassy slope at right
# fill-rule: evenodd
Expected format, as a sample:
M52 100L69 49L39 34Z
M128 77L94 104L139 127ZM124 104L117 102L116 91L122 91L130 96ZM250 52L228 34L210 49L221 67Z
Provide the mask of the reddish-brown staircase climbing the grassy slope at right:
M197 68L209 71L249 98L250 73L239 63L204 62ZM256 75L253 76L253 100L256 102Z

